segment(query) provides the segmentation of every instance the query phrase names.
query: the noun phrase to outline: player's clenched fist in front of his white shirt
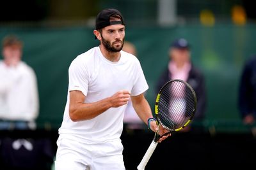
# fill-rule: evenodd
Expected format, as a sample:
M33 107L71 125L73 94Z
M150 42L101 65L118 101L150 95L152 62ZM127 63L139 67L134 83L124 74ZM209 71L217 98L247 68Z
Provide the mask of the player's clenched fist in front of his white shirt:
M113 96L109 97L111 107L112 108L118 108L120 106L123 106L124 104L127 104L127 101L129 101L130 93L127 90L121 90L119 92L116 92Z

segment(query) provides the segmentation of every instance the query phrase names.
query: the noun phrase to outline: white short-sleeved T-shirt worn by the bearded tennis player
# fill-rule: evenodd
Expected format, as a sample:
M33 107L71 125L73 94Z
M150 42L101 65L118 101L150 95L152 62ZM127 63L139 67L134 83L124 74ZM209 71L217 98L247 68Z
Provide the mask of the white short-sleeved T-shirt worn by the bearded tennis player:
M95 47L74 59L68 70L69 85L60 138L82 143L104 143L119 139L123 129L126 104L109 108L95 118L72 122L69 117L69 92L79 90L93 103L113 96L119 90L128 90L138 96L148 89L139 60L132 54L121 51L118 62L111 62Z

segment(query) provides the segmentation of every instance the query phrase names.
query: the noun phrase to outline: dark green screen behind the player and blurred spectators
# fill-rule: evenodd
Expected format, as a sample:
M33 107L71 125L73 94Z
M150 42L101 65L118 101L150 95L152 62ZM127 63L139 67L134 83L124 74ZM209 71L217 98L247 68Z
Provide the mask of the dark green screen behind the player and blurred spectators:
M127 41L137 48L152 107L154 87L159 74L166 69L170 43L183 37L191 43L193 63L205 75L207 112L202 123L221 131L246 130L237 109L237 92L243 64L255 53L255 25L127 27L125 33ZM7 34L16 34L24 41L23 60L35 69L40 93L38 126L60 127L67 100L68 66L77 55L99 45L93 28L0 27L0 38Z

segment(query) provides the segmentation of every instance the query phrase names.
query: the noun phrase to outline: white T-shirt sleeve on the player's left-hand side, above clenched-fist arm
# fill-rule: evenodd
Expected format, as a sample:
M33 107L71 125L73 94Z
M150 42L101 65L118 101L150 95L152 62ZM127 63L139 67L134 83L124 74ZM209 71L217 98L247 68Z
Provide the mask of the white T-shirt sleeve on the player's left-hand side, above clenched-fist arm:
M68 69L68 92L79 90L87 96L88 92L88 72L86 65L79 60L73 60Z

